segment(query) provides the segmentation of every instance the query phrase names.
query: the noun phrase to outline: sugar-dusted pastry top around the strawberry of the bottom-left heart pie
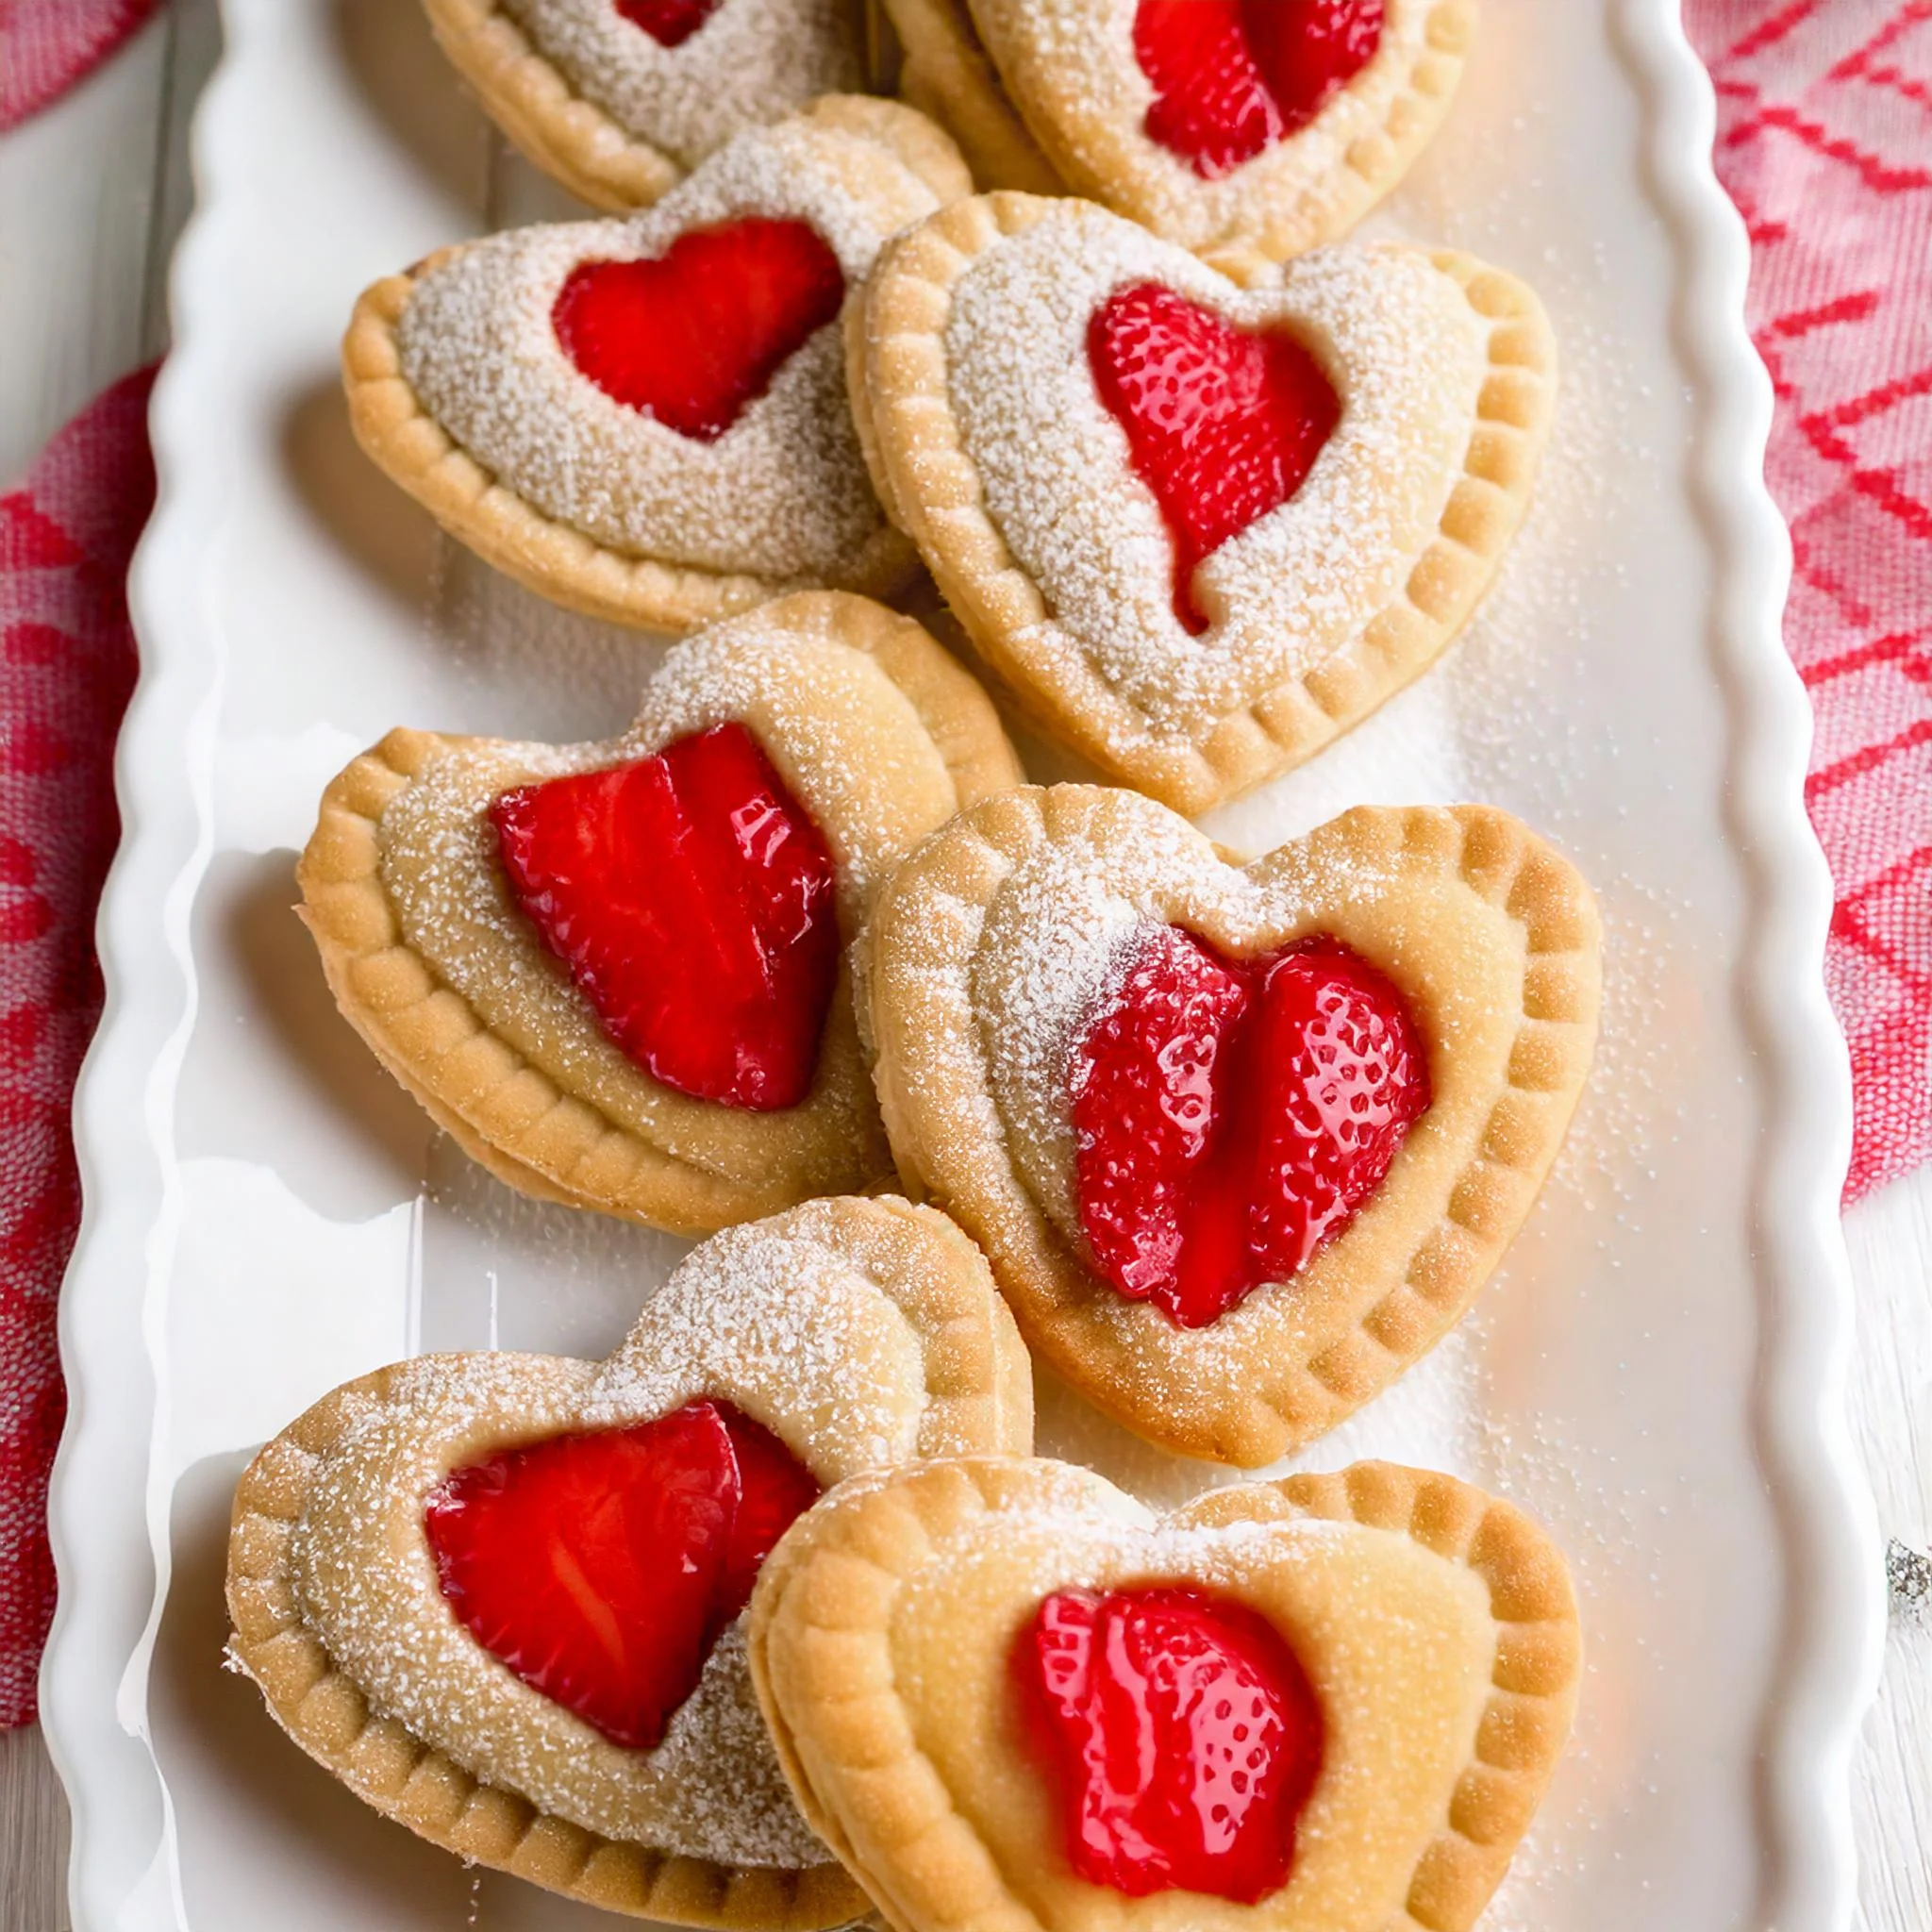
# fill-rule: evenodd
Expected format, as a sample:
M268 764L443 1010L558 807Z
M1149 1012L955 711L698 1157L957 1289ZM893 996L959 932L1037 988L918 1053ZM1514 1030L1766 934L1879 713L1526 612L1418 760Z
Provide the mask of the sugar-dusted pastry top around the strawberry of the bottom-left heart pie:
M918 1449L923 1347L877 1258L810 1204L697 1248L630 1339L558 1356L417 1356L319 1468L290 1540L303 1621L338 1669L468 1772L609 1837L759 1866L829 1861L792 1806L752 1690L742 1621L655 1750L626 1750L477 1646L437 1582L423 1507L452 1470L551 1435L723 1397L827 1488Z

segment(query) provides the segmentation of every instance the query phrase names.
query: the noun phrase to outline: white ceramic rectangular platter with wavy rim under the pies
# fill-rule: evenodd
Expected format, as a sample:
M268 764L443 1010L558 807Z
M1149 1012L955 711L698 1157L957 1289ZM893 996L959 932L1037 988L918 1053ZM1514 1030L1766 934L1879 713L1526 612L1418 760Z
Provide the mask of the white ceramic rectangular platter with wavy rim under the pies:
M1582 1586L1577 1747L1495 1932L1849 1924L1845 1764L1880 1563L1847 1453L1830 887L1758 481L1747 247L1675 0L1486 0L1468 83L1378 220L1530 276L1567 390L1546 483L1453 657L1211 827L1488 798L1607 916L1609 1009L1561 1167L1474 1318L1320 1443L1538 1511ZM228 0L155 406L128 842L79 1101L73 1424L46 1719L79 1932L485 1932L589 1915L363 1810L220 1669L255 1445L415 1349L601 1352L676 1242L524 1202L425 1130L298 927L323 782L386 726L605 734L655 647L454 551L355 454L334 348L377 274L545 211L406 0ZM1150 1495L1213 1472L1043 1391L1047 1447Z

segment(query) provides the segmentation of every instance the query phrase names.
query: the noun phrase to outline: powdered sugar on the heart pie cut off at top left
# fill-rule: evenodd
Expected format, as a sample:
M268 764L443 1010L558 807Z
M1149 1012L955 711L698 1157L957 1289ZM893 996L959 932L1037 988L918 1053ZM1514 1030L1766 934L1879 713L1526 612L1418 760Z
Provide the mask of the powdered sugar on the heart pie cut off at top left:
M498 0L585 100L686 168L740 128L864 85L846 0L719 0L665 46L614 0Z

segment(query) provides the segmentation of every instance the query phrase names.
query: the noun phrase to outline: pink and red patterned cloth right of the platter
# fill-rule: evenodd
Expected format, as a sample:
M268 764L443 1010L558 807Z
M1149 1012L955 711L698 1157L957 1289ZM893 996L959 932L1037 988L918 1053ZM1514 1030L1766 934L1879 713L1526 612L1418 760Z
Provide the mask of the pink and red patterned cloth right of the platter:
M1777 388L1857 1200L1932 1155L1932 0L1685 0Z

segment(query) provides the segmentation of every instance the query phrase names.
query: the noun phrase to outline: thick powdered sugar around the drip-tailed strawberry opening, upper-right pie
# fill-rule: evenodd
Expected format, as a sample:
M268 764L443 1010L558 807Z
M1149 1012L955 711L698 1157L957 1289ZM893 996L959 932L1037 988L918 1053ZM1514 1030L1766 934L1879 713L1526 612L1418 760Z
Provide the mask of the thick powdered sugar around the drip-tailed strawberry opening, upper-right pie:
M1146 280L1240 328L1293 327L1343 404L1300 491L1196 572L1200 638L1175 616L1173 539L1086 355L1095 309ZM1360 634L1434 535L1488 369L1486 327L1424 255L1321 249L1279 290L1242 292L1074 201L978 257L945 340L987 512L1049 612L1014 643L1084 661L1140 715L1134 736L1192 736Z

